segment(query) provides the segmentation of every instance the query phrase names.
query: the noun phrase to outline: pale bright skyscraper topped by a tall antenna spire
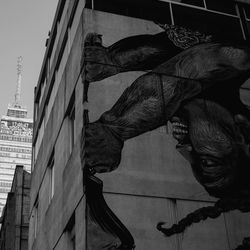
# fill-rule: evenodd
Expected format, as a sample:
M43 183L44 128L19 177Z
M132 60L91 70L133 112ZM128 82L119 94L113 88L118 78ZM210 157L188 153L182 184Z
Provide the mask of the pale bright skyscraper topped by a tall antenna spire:
M31 170L32 124L28 111L20 104L21 58L14 104L8 105L7 114L1 118L0 130L0 213L10 191L17 164Z

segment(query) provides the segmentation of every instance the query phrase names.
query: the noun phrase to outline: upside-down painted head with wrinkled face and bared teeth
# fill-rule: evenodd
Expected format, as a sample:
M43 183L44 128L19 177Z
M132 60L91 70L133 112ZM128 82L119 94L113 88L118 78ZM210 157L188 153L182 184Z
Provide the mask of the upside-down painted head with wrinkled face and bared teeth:
M182 146L199 183L216 197L250 191L249 121L209 101L205 106L192 102L186 111L188 134Z

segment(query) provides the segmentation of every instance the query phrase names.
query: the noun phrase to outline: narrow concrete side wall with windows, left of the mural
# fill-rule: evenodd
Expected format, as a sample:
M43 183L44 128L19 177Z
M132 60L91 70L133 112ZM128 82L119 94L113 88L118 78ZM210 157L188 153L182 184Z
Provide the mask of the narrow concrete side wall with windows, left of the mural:
M69 9L64 23L68 22L73 2L74 1L70 1L68 5ZM79 123L82 123L82 121L78 120L82 118L80 115L76 115L75 146L71 153L68 143L69 118L66 113L71 98L75 99L77 114L82 112L82 101L81 97L79 97L79 93L82 93L82 83L79 78L81 57L79 49L81 49L82 45L82 22L80 22L79 19L83 6L84 2L79 1L74 21L70 27L72 39L71 50L68 57L64 58L64 60L66 60L65 70L62 72L58 92L56 93L54 105L48 118L43 141L33 171L31 200L33 201L33 206L35 200L37 198L39 200L39 229L36 237L34 237L34 234L32 235L32 233L30 233L29 249L67 249L68 236L65 228L73 213L76 217L76 230L79 232L84 232L85 230L84 223L82 223L84 221L85 201L83 199L83 184L79 156L79 135L81 133ZM59 44L62 43L65 27L66 24L63 25L62 34L59 35ZM59 50L59 48L60 46L57 50ZM55 58L56 57L58 57L57 52L55 52ZM80 130L78 130L78 128L80 128ZM50 180L47 164L53 150L56 176L54 182L55 193L52 200L49 200L48 193ZM53 221L53 225L51 221ZM34 228L32 216L30 225ZM34 229L32 231L34 231ZM82 238L81 234L77 234L76 238L77 246L80 247L79 249L82 249L83 244L85 244L84 238Z

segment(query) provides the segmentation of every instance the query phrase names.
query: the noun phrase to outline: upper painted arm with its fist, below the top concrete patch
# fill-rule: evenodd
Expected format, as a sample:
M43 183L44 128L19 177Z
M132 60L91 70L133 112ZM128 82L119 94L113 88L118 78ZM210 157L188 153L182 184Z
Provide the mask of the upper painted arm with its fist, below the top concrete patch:
M93 82L120 72L149 70L181 51L166 32L128 37L109 47L102 45L101 35L89 33L84 41L82 78Z

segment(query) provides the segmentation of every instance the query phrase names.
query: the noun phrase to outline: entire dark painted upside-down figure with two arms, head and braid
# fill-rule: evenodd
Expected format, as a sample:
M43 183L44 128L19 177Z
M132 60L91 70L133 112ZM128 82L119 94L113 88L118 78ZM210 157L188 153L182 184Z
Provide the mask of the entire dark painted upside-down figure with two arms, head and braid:
M250 112L239 95L250 77L250 48L243 41L218 41L181 27L161 27L159 34L128 37L110 47L102 45L100 35L87 35L85 90L90 82L120 72L148 72L87 125L82 158L91 174L112 171L120 163L124 141L171 121L177 149L184 152L198 182L219 200L171 228L158 223L158 230L170 236L226 211L250 211ZM119 249L132 248L125 245ZM248 239L238 249L246 245Z

